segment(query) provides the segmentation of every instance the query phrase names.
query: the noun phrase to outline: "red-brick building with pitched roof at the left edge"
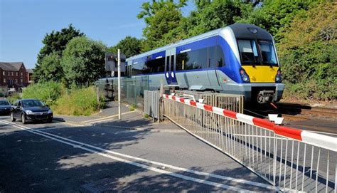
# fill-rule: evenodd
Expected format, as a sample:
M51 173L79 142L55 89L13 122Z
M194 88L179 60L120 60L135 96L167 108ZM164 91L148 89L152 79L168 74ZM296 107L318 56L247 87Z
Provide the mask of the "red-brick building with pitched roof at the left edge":
M0 86L18 89L26 85L28 85L28 78L23 62L0 62Z

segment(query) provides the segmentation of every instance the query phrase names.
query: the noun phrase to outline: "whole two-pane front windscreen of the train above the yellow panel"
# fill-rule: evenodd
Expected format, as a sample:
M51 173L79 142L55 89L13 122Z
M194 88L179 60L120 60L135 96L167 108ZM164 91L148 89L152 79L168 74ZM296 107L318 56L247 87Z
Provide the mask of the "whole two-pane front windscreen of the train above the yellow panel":
M277 66L272 41L237 40L242 65Z

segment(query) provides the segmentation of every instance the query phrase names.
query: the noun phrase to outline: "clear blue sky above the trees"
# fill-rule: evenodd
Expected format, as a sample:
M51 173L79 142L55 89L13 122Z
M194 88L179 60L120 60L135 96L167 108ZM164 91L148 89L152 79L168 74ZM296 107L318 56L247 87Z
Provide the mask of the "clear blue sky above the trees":
M0 61L22 61L34 68L46 33L69 24L89 38L114 46L125 36L142 37L137 19L149 0L0 0ZM193 1L182 9L188 15Z

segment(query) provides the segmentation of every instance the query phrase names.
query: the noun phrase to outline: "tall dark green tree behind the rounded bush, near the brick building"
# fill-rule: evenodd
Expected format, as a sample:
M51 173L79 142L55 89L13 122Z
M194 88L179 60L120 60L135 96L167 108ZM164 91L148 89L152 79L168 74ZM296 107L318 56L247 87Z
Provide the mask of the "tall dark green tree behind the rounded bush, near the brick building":
M44 80L43 76L46 75L46 72L48 72L48 69L43 69L43 67L41 66L41 64L43 63L43 58L52 53L58 55L61 58L67 43L77 36L85 35L84 33L81 33L80 30L74 28L72 24L70 24L68 28L62 28L60 31L52 31L51 33L46 34L46 36L42 40L44 46L38 53L38 61L36 63L36 68L34 69L33 73L33 79L36 82L39 80ZM50 60L50 58L48 60ZM53 73L55 73L56 76L63 75L62 71L54 71Z

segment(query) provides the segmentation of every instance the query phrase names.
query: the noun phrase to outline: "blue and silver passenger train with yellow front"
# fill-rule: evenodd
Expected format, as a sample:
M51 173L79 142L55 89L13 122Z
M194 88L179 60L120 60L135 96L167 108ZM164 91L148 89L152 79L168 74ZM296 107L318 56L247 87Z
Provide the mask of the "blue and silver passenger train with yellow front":
M274 38L252 24L232 24L127 58L125 75L148 77L149 90L164 83L245 95L246 103L277 102L284 90Z

